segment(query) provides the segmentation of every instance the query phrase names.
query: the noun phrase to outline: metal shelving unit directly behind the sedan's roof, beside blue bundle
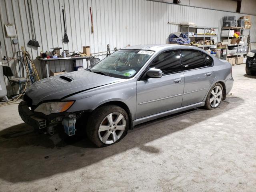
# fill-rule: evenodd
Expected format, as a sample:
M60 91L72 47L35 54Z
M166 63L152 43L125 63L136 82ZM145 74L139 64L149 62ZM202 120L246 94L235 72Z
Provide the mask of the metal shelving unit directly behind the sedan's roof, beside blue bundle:
M197 28L204 29L204 34L194 34L194 35L190 35L190 32L193 32L193 31L194 31L194 33L196 33L196 29L197 29ZM206 34L206 30L207 30L207 29L214 29L214 30L217 30L216 35L208 35L208 34ZM218 42L218 30L219 30L218 27L193 26L193 25L182 25L182 26L180 26L180 31L181 31L181 32L184 32L184 33L187 33L189 38L193 38L193 40L197 40L196 38L201 38L201 39L203 39L204 44L198 46L198 47L200 47L200 48L202 48L202 49L204 49L205 47L214 47L214 46L216 46L216 44L214 44L214 45L205 45L205 40L206 40L206 38L217 38L217 41L216 41L216 42ZM215 42L215 43L216 43L216 42Z

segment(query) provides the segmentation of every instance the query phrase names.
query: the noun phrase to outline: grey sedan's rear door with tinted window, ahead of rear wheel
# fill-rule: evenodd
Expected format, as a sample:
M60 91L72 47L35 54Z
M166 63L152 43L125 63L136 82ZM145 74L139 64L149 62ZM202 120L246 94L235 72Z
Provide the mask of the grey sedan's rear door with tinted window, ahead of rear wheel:
M214 79L212 58L192 49L181 50L181 55L185 81L182 106L202 102Z

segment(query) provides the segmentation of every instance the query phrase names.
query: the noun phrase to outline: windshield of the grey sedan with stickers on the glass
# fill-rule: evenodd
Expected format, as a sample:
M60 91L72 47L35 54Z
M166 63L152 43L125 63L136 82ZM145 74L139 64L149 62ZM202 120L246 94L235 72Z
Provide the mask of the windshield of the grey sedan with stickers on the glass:
M101 60L91 68L91 71L117 78L131 78L142 68L152 54L154 51L118 50Z

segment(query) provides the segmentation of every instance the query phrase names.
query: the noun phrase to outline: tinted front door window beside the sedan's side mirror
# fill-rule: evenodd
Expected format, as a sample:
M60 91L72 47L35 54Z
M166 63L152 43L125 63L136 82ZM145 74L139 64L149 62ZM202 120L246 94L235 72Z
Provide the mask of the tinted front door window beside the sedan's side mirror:
M163 74L178 72L181 70L180 51L166 51L158 55L150 65L150 68L162 70Z

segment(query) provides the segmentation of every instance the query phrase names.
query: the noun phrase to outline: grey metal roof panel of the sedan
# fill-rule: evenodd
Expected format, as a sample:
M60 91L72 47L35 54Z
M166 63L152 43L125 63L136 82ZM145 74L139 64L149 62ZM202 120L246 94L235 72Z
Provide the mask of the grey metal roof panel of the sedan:
M128 46L128 47L125 47L125 48L122 48L122 49L139 49L139 50L161 51L161 50L165 50L166 48L174 48L174 49L189 48L189 49L198 50L198 48L195 47L195 46L186 46L186 45L178 45L178 44L135 45L135 46Z

